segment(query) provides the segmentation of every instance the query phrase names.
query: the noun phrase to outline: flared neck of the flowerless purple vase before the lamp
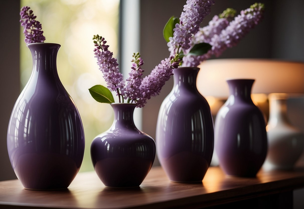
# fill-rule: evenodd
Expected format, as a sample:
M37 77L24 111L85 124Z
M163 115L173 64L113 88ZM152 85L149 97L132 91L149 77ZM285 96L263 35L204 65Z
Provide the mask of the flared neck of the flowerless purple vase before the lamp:
M229 97L233 97L234 100L248 101L251 100L251 88L254 80L252 79L233 79L227 80L229 85Z

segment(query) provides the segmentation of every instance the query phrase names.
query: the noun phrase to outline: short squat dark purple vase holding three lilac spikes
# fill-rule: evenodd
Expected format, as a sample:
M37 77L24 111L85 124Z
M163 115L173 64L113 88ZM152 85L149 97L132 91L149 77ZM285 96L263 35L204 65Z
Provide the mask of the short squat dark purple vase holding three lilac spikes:
M155 158L154 140L133 122L136 104L111 103L114 122L95 137L91 158L106 187L138 187L149 173Z

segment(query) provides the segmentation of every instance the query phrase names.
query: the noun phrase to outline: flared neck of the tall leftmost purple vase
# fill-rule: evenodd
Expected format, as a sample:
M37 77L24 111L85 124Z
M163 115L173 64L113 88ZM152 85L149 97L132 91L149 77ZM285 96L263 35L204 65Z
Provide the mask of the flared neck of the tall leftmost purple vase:
M33 43L28 47L33 58L33 73L58 76L56 59L60 44Z

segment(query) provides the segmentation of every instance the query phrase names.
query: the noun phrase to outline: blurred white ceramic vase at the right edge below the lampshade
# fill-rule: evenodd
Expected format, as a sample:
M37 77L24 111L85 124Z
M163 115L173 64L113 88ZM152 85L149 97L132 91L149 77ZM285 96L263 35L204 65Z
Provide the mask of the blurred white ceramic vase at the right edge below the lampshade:
M284 94L269 95L268 154L263 165L265 169L294 168L304 148L303 133L288 120L286 100Z

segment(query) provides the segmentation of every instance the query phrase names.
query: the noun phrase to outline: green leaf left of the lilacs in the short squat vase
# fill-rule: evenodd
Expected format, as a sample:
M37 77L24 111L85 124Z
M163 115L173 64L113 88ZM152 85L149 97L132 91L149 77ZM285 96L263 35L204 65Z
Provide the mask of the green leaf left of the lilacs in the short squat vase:
M114 102L114 98L111 91L102 85L95 85L92 88L90 88L89 91L92 97L98 102L101 103Z

